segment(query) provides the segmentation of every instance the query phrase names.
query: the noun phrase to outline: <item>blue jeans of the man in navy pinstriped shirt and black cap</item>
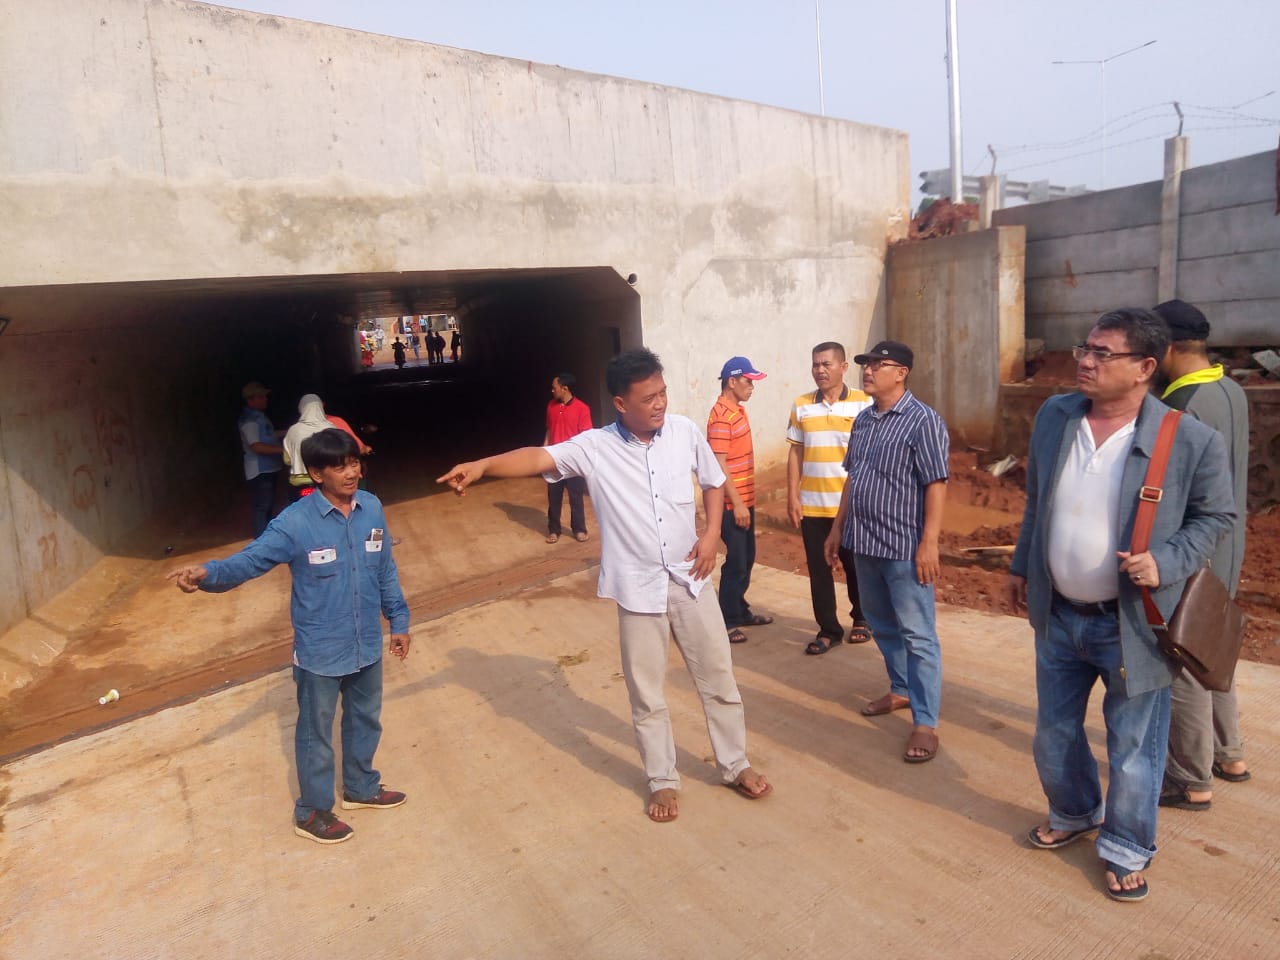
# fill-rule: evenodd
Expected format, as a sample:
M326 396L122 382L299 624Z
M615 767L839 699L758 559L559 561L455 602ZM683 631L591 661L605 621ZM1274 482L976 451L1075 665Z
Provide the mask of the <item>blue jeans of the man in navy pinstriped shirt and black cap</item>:
M915 561L854 554L858 598L888 671L890 692L911 701L918 727L938 726L942 649L933 616L933 584L915 579Z

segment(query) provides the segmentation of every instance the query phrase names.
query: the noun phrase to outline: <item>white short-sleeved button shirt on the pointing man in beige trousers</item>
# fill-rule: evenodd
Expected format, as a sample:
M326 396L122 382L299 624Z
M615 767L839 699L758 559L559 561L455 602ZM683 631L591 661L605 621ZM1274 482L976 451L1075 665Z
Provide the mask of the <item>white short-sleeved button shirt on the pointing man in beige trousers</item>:
M586 480L600 527L600 580L596 593L631 613L666 613L668 581L696 596L709 577L692 579L686 559L698 541L694 483L721 486L724 471L694 421L668 413L645 443L621 422L586 430L547 448L556 483Z

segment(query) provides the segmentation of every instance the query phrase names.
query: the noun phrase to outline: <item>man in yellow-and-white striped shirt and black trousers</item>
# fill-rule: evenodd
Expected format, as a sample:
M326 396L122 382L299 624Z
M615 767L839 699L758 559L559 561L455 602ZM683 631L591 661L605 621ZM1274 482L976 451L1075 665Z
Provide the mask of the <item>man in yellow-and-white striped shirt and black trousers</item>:
M840 509L840 494L845 489L845 451L854 417L872 404L861 390L851 390L845 384L849 361L840 343L827 340L813 348L813 381L818 388L801 393L791 404L787 424L787 518L800 527L804 539L805 562L809 564L809 599L818 635L805 648L808 654L823 654L844 637L840 616L836 613L836 581L831 566L823 557L823 544ZM860 644L872 639L863 608L858 600L858 576L854 572L854 554L840 548L840 563L845 568L849 593L849 616L854 626L849 643Z

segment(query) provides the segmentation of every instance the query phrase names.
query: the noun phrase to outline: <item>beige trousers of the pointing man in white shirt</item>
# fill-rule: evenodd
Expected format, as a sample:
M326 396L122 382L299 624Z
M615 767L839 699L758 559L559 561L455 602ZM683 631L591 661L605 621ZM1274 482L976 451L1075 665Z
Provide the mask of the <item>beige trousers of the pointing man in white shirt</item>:
M751 764L746 759L746 718L733 680L724 618L709 584L694 598L682 584L668 580L666 613L632 613L618 607L622 676L649 792L680 788L676 739L663 695L672 636L703 701L721 778L732 783Z

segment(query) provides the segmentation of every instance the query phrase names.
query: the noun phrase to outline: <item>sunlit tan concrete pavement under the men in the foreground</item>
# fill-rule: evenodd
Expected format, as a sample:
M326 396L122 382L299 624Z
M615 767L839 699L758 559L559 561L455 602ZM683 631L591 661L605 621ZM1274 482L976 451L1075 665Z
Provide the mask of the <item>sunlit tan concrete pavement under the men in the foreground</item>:
M911 767L908 719L856 714L876 649L805 657L805 581L756 573L778 622L733 655L767 800L716 785L673 655L681 817L644 817L616 617L584 571L415 627L379 753L411 799L352 812L348 844L289 828L287 672L8 765L5 954L1280 956L1275 669L1239 673L1254 780L1162 813L1152 896L1121 905L1089 844L1021 841L1043 815L1024 622L941 611L942 749Z

